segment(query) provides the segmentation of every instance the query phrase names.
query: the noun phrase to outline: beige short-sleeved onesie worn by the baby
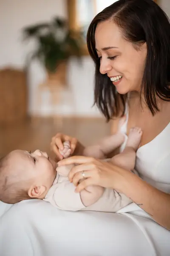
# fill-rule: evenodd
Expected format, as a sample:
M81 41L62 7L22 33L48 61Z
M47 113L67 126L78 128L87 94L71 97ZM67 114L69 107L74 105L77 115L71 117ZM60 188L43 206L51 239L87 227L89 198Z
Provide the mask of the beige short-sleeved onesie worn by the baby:
M50 202L54 207L68 211L99 211L117 212L132 201L125 195L116 192L114 189L104 189L101 198L91 206L85 207L82 204L80 193L75 193L75 186L68 180L68 173L73 165L57 168L57 176L47 195L43 199Z

